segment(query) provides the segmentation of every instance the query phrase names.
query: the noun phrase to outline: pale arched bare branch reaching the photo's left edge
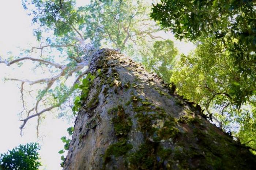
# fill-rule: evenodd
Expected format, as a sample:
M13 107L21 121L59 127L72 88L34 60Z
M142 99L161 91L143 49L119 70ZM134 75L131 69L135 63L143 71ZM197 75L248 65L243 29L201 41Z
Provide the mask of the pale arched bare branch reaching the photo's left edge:
M1 57L0 57L0 63L4 63L6 64L7 66L10 66L11 64L14 64L14 63L18 63L18 62L21 62L23 60L31 60L31 61L36 61L36 62L40 62L40 63L44 63L46 65L51 65L51 66L54 66L56 68L60 68L62 69L63 68L63 65L60 65L60 64L57 64L57 63L53 63L53 62L49 62L47 60L42 60L42 59L36 59L36 58L31 58L31 57L23 57L23 58L19 58L19 59L16 59L16 60L12 60L11 62L8 62L7 60L1 60Z

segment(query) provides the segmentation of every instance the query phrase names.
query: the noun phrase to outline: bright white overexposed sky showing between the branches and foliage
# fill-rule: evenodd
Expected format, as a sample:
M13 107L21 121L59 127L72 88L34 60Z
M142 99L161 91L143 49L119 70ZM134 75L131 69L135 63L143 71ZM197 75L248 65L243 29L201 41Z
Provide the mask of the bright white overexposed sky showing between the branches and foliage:
M83 5L88 0L79 0L78 6ZM22 8L21 0L2 0L0 4L0 56L6 56L8 51L12 51L15 55L18 53L18 46L22 49L31 48L36 40L33 36L31 28L31 18L27 16ZM173 36L169 36L172 37ZM194 46L189 43L174 41L179 51L188 54ZM17 54L18 55L18 54ZM30 66L30 62L27 66ZM32 66L31 66L32 67ZM15 68L15 71L14 71ZM6 67L0 64L0 153L6 152L19 144L26 144L29 142L38 142L41 145L41 162L43 166L41 169L58 170L60 167L60 154L58 151L64 148L64 144L60 138L67 136L66 129L71 126L66 120L52 119L51 116L44 121L40 127L43 134L46 134L42 139L37 139L35 134L35 121L31 119L26 124L24 135L20 136L20 122L17 115L22 110L22 103L20 101L20 83L6 82L3 78L8 76L27 78L39 78L36 74L31 74L29 69L19 69L17 67ZM32 76L33 75L33 76ZM50 113L49 113L50 114ZM72 123L72 122L71 122Z

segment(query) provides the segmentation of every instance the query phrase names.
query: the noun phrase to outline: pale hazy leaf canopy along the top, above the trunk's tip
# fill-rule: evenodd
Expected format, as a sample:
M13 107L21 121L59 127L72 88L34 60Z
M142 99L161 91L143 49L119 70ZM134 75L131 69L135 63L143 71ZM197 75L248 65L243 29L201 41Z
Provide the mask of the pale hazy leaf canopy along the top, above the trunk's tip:
M96 48L105 44L124 50L128 43L152 39L152 33L159 31L148 17L147 1L102 0L76 7L74 0L23 0L23 7L33 8L33 23L41 27L36 35L53 29L54 35L67 40L66 35L75 39L78 33L79 40L90 39Z

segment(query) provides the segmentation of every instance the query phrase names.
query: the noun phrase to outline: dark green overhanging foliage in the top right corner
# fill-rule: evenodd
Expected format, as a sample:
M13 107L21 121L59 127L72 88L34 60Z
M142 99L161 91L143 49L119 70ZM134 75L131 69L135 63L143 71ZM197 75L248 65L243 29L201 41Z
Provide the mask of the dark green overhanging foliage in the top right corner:
M151 17L163 28L170 29L178 39L210 38L212 45L222 41L229 52L236 74L250 79L247 88L237 81L229 91L240 107L255 94L256 12L252 0L162 0L153 5ZM215 51L214 51L215 52Z

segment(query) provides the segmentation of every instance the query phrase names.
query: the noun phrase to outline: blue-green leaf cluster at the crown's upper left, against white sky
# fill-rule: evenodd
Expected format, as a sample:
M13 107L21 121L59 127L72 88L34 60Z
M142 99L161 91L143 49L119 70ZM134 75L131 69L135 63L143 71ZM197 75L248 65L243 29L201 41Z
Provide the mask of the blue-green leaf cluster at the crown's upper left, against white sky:
M65 0L23 0L23 7L34 5L33 23L40 23L41 27L54 28L54 34L64 35L72 30L73 25L83 22L83 18L75 10L75 1ZM36 31L37 39L41 40L41 32Z

